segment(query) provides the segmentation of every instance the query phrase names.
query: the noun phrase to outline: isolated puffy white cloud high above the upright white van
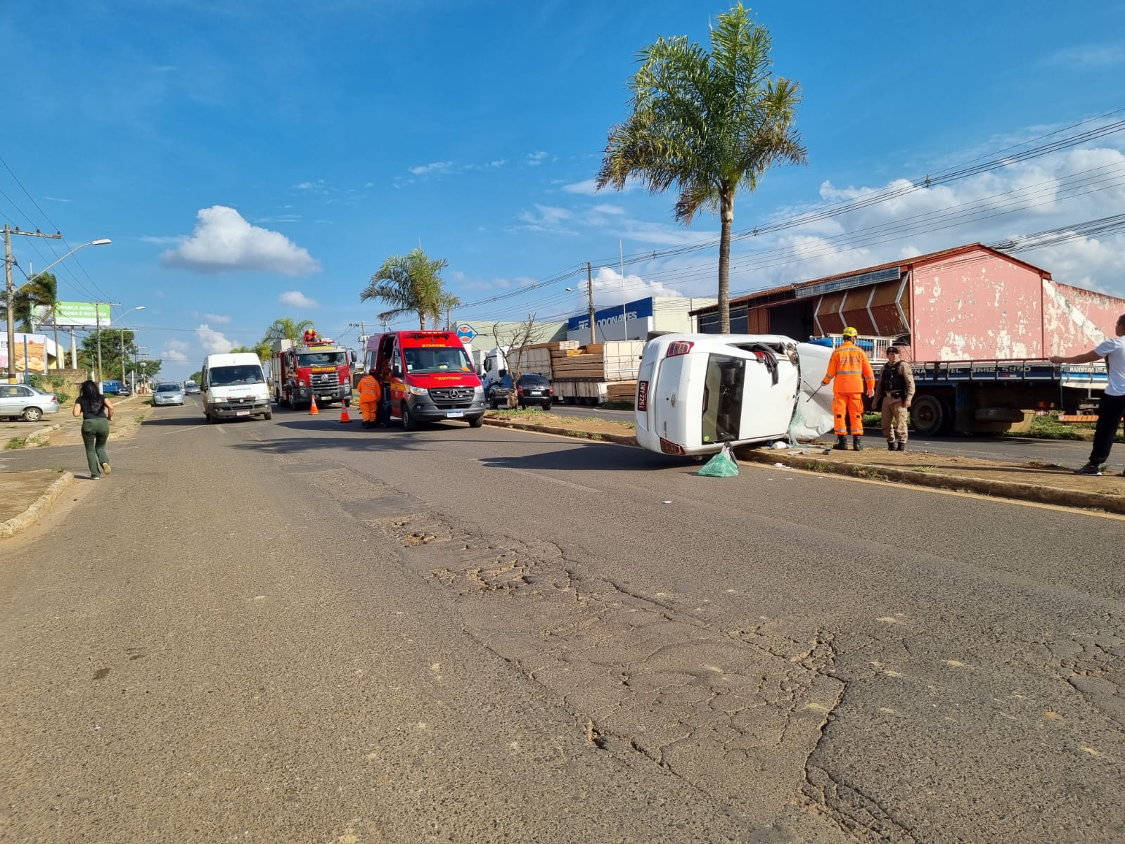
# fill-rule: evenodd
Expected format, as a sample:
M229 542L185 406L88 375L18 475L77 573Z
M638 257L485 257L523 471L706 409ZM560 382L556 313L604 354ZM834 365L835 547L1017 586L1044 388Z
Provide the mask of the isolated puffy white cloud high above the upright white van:
M191 236L176 249L162 252L168 267L197 272L264 271L284 276L309 276L321 263L279 232L251 225L234 208L201 208Z

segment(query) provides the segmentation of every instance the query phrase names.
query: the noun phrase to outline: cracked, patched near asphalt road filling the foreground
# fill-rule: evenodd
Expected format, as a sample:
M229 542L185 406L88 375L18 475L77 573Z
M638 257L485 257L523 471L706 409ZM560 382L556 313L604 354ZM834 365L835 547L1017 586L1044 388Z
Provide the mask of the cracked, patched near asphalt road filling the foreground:
M0 841L1125 839L1120 519L197 414L0 546Z

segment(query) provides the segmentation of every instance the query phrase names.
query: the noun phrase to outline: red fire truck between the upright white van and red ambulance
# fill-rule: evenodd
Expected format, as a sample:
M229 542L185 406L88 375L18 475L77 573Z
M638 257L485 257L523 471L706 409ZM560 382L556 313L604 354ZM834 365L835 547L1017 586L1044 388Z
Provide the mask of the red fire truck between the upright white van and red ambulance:
M270 357L273 398L282 407L349 402L353 353L326 338L304 343L274 340Z

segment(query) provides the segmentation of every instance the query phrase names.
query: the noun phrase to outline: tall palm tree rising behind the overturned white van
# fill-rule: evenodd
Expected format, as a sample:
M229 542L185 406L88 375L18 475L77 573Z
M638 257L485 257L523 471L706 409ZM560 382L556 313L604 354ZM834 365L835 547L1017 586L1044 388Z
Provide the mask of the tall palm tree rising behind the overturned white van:
M719 331L730 332L730 230L735 195L754 191L776 164L806 163L794 122L795 81L772 77L770 30L741 3L711 28L711 52L686 36L660 37L638 54L633 113L610 131L597 187L637 178L651 194L675 187L676 219L718 212Z

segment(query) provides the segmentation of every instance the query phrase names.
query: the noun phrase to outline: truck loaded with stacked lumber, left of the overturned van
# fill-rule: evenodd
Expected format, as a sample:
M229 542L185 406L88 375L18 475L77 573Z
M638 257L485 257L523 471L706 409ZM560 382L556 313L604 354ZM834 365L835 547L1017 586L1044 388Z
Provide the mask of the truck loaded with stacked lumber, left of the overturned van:
M557 401L566 404L632 404L642 340L610 340L582 345L577 340L534 343L511 350L512 372L537 372L550 378Z

